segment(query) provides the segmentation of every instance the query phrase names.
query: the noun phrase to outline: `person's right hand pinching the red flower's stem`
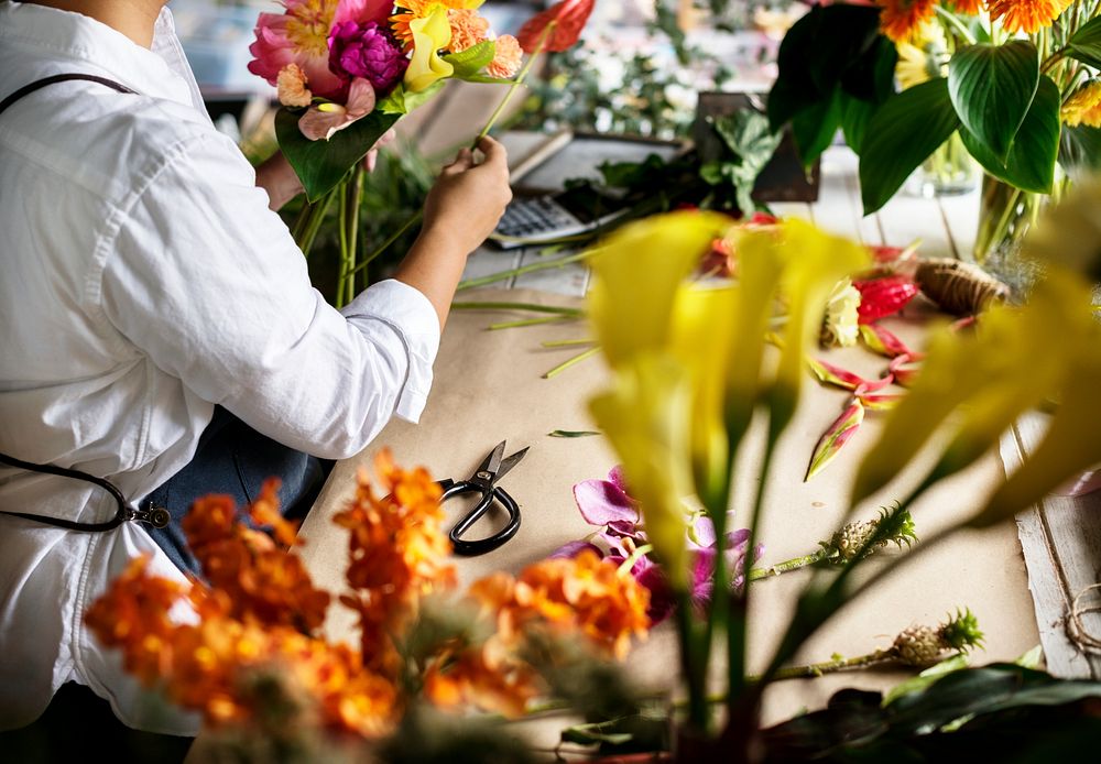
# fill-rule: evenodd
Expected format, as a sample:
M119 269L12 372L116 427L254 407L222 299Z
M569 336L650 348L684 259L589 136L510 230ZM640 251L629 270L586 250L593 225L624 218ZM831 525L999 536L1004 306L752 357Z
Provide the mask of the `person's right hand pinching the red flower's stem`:
M424 203L424 231L438 232L469 253L497 228L512 200L504 146L492 138L478 141L486 155L478 164L470 149L444 167Z

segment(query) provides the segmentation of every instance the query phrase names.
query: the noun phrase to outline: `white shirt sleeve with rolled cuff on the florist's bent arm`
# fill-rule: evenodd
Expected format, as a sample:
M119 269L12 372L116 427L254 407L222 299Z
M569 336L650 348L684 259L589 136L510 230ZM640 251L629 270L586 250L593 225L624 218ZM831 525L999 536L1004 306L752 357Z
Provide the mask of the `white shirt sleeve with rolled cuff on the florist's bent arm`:
M105 312L200 397L286 446L345 458L394 413L419 417L438 318L423 294L395 281L337 312L310 286L268 203L228 139L175 146L119 223Z

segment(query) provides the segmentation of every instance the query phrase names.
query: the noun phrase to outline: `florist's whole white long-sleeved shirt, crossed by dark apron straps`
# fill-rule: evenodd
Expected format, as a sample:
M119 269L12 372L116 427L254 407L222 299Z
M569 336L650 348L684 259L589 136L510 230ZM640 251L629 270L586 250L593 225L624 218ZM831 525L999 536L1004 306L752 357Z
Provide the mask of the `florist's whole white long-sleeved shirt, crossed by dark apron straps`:
M152 50L86 17L0 2L0 451L106 477L131 502L194 455L215 404L286 446L340 458L432 382L436 314L382 282L337 312L237 146L218 133L165 10ZM0 510L97 522L86 482L0 466ZM83 623L135 556L178 577L137 523L80 533L0 515L0 729L65 681L127 724L194 733Z

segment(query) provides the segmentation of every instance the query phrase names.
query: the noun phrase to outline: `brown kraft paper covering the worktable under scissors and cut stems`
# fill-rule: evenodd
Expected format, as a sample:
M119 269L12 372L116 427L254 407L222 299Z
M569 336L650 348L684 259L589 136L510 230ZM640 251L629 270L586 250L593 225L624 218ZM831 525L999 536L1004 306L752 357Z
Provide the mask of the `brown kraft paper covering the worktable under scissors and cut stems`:
M464 295L464 299L580 304L558 295L521 290L478 291ZM356 471L360 467L370 469L374 452L383 446L393 450L399 465L424 465L436 478L456 479L469 477L500 440L509 441L505 454L532 447L527 457L501 481L521 505L520 532L513 541L487 555L456 557L460 590L494 570L516 572L562 544L596 530L578 513L571 488L581 480L606 477L617 463L614 454L604 437L554 438L547 434L555 429L596 429L587 413L587 401L607 385L608 374L602 361L592 358L554 379L541 379L547 370L581 349L545 349L541 342L584 338L588 336L588 328L584 321L571 321L487 330L491 323L511 317L499 310L454 312L444 334L435 383L421 424L394 421L371 447L336 466L301 532L308 542L302 555L318 586L333 592L345 590L347 536L330 519L352 495ZM920 345L919 326L906 320L887 326L913 345ZM869 378L879 376L886 367L885 359L862 348L831 351L824 357ZM814 552L818 541L827 539L842 522L855 467L876 440L885 414L870 412L861 430L824 472L809 483L804 483L803 477L819 436L840 414L846 402L843 391L822 388L808 375L803 405L780 445L768 481L761 531L765 546L763 564ZM746 452L739 455L733 506L740 514L733 527L741 527L749 512L760 466L762 432L759 428L757 437L751 437L750 447L743 448ZM904 479L913 483L918 471L907 470ZM973 513L1002 479L1002 467L991 454L967 472L938 485L914 510L918 536L930 537L953 517ZM880 504L902 496L902 489L873 496L859 507L857 515L873 517ZM454 522L461 507L450 506L453 503L458 504L449 502L445 509L454 515L449 516ZM503 523L503 515L501 511L497 523ZM489 527L484 522L473 531L487 528L491 533L501 527L500 524ZM882 558L891 554L884 553ZM875 567L874 560L866 564L864 575ZM751 670L764 667L787 623L795 598L808 578L809 571L804 570L753 585ZM975 653L974 665L1014 659L1038 644L1014 524L957 535L905 567L835 616L804 647L798 661L828 661L833 653L857 656L887 647L894 635L906 626L936 625L958 607L969 607L986 633L986 648ZM353 616L339 604L331 611L327 624L330 636L355 644ZM655 629L650 640L631 654L626 665L647 687L674 686L678 661L671 623ZM912 673L865 670L781 683L766 695L765 722L778 722L802 709L821 708L829 696L842 687L884 690L908 676ZM537 736L542 742L555 742L558 722L560 720L541 725Z

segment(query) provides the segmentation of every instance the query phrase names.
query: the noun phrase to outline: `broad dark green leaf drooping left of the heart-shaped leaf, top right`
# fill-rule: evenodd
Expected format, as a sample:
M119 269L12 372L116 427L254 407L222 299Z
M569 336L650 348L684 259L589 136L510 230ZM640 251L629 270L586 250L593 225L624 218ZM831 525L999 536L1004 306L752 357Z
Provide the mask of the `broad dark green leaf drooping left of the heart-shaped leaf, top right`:
M909 174L959 127L944 77L889 98L869 120L860 146L864 215L885 205Z

